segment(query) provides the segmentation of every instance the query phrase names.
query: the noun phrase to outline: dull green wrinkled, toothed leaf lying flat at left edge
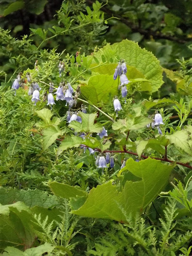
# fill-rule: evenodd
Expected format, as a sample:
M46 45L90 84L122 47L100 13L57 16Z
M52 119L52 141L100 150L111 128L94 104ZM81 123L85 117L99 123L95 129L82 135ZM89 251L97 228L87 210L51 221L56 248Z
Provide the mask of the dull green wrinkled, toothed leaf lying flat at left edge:
M7 190L0 187L0 203L2 205L8 205L18 201L25 203L25 205L29 207L38 205L48 208L58 205L58 200L55 195L49 195L47 192L38 189L17 190L10 188Z

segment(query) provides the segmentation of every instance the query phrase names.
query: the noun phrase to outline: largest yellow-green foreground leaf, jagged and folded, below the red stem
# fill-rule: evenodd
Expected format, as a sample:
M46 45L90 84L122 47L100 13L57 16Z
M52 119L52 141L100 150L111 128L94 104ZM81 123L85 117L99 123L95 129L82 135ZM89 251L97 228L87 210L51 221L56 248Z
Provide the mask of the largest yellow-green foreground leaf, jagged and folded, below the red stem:
M112 182L98 185L91 189L86 202L77 210L72 210L72 213L126 222L125 215L143 213L147 205L162 191L173 165L164 165L161 161L151 158L140 162L130 158L126 162L126 169L133 174L133 177L142 180L137 179L136 182L127 180L120 192ZM73 209L74 207L73 200Z

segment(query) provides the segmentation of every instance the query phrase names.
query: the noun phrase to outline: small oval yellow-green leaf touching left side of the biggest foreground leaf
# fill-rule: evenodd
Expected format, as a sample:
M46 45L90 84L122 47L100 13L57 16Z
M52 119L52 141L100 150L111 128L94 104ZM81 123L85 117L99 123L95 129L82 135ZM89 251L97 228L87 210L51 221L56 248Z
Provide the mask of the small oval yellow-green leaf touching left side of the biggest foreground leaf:
M60 196L61 198L72 198L78 196L87 196L87 193L80 190L77 186L72 187L67 184L61 184L58 182L49 182L49 187L54 195Z

